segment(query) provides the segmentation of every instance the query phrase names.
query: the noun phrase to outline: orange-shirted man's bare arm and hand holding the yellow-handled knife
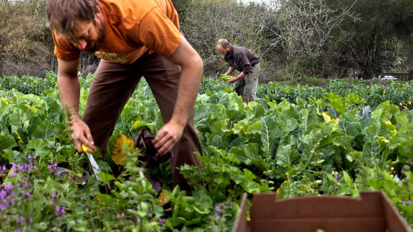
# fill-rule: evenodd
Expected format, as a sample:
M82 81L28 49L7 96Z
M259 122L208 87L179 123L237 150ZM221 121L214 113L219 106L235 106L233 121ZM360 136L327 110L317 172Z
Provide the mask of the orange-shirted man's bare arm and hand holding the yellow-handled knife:
M63 109L66 109L67 106L71 113L73 125L70 129L74 130L71 134L71 137L75 138L74 144L78 152L83 152L81 143L96 151L88 125L79 118L80 84L77 75L79 60L64 61L57 59L57 64L59 65L57 85L59 86L60 101Z

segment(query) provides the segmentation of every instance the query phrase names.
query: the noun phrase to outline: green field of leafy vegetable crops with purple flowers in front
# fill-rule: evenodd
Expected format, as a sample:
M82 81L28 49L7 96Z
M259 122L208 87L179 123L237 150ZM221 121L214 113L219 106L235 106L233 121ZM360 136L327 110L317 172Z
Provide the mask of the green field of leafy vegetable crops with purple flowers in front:
M92 79L80 78L80 115ZM282 199L377 189L413 226L412 82L270 82L247 105L225 81L204 78L194 117L204 165L180 168L192 196L171 189L169 163L140 168L128 146L143 125L152 133L163 125L145 81L123 109L105 160L94 154L102 182L72 145L55 73L1 76L0 85L0 231L225 232L244 192ZM123 146L119 135L128 137ZM144 173L161 183L169 209Z

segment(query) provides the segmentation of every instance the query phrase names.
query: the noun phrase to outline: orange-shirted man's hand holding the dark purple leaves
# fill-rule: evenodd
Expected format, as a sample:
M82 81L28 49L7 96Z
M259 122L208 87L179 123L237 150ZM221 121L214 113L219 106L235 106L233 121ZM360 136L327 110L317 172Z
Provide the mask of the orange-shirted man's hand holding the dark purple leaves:
M158 131L152 140L152 144L158 150L157 156L166 154L175 146L182 136L183 128L182 125L169 121Z

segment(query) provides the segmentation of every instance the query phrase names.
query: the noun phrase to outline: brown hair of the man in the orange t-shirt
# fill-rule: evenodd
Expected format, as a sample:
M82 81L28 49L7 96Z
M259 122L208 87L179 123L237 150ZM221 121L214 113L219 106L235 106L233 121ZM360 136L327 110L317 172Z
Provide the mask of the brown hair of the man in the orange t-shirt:
M60 36L72 36L76 21L95 19L97 0L47 0L47 27Z

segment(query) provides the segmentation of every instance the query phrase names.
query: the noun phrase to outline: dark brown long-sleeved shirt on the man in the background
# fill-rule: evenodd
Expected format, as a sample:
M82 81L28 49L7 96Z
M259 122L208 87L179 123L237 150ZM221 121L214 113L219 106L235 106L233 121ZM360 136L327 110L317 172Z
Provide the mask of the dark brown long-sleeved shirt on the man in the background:
M259 56L246 47L230 44L230 51L224 57L231 67L245 75L252 72L252 67L259 63Z

